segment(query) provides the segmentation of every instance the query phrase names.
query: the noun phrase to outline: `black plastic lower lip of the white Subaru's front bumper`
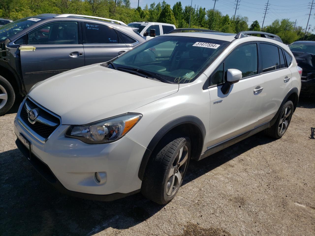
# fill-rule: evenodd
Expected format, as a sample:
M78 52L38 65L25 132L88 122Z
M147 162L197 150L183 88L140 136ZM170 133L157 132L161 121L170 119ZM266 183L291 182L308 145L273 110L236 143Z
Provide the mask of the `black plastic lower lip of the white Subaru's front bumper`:
M50 170L50 168L37 156L32 154L26 146L20 141L20 139L16 139L15 141L16 146L20 150L20 152L26 157L26 160L34 167L34 169L50 184L54 186L60 193L67 194L73 197L95 200L95 201L113 201L116 199L124 198L129 195L139 193L140 189L135 190L130 193L113 193L113 194L87 194L87 193L80 193L66 189L62 183L56 178L54 173Z

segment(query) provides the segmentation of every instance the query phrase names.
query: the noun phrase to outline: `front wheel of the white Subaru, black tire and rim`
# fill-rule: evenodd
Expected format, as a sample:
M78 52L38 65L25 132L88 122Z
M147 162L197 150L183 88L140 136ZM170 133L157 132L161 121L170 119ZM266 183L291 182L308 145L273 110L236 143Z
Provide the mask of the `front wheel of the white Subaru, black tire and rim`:
M163 139L164 141L158 144L152 153L141 185L141 193L145 197L162 205L170 202L178 192L191 155L191 143L188 137L169 135ZM182 156L179 158L181 149ZM186 164L184 164L185 159ZM172 175L169 177L170 174Z

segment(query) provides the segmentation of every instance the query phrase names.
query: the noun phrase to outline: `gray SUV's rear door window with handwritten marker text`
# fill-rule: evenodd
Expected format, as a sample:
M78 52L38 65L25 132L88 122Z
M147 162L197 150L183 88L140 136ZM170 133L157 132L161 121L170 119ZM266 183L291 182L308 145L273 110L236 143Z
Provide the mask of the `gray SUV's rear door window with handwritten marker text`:
M91 22L83 22L83 33L86 44L117 44L119 43L116 31L107 26Z

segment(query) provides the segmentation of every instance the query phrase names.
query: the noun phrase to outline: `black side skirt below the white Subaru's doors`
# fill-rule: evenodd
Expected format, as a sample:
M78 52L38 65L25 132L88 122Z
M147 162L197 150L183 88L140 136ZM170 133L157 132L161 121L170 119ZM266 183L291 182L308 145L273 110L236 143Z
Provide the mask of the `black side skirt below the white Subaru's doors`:
M251 129L249 131L246 131L244 133L241 133L237 136L234 136L232 138L229 138L227 140L224 140L220 143L217 143L215 145L210 146L203 154L201 154L201 156L199 157L198 160L201 160L205 157L208 157L218 151L221 151L235 143L238 143L239 141L242 141L245 138L248 138L258 132L263 131L266 128L269 128L271 126L270 122L266 122L264 124L261 124L260 126L256 126L254 129Z

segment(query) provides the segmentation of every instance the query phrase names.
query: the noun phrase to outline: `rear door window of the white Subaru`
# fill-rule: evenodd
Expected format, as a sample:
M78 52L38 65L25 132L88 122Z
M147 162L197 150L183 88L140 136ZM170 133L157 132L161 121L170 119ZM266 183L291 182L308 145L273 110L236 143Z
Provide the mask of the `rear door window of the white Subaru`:
M262 72L277 70L280 68L278 47L271 44L260 44Z

